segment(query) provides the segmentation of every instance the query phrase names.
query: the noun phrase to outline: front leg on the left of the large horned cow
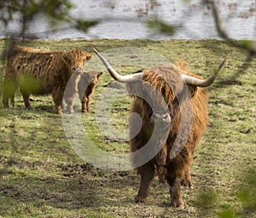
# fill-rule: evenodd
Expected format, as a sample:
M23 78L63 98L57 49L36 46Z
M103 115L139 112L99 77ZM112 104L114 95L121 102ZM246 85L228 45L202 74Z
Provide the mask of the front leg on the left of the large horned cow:
M147 201L150 183L154 178L154 164L148 162L139 167L138 172L141 175L141 185L137 197L135 198L135 202L145 203Z

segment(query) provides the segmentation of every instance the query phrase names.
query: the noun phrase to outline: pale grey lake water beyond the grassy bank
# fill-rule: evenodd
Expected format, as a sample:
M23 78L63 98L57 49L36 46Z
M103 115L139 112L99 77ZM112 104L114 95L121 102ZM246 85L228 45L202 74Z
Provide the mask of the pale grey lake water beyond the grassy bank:
M222 24L230 37L256 39L255 0L216 2ZM100 20L100 23L84 33L67 25L53 28L43 15L38 15L37 19L30 23L28 33L46 40L79 37L154 40L219 38L212 10L206 5L201 5L200 1L72 0L72 3L74 8L71 14L74 18ZM146 21L155 16L177 26L176 34L170 37L149 29ZM19 31L19 17L16 16L15 19L16 21L9 25L9 32ZM0 37L3 36L1 32Z

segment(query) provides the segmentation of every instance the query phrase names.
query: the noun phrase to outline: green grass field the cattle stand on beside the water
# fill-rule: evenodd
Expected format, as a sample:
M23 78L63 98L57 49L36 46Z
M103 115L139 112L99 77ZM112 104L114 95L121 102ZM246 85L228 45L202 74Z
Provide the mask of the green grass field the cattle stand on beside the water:
M0 40L0 49L4 50L4 46L5 41ZM157 178L148 203L133 203L139 186L134 170L110 171L87 164L69 145L51 97L32 96L33 110L28 111L17 92L15 108L5 109L0 103L0 217L256 217L255 57L248 61L245 51L217 40L67 39L29 41L27 46L80 48L91 53L92 48L104 52L133 47L172 63L183 59L192 72L202 77L209 76L226 54L230 58L209 88L210 122L191 169L194 189L183 188L184 209L169 207L168 186L161 185ZM120 56L116 52L113 60ZM128 56L128 61L135 61L131 66L128 62L122 65L121 59L117 69L125 74L136 72L145 62L160 63L147 60L147 55L143 60L136 59L136 53ZM3 76L4 61L2 65ZM103 70L102 66L88 67ZM110 82L113 79L105 72L92 95L90 112L82 114L83 128L102 150L127 153L129 145L125 140L109 138L100 128L105 126L97 120L102 93L106 95L103 100L108 101L113 92L119 91L106 88ZM131 98L121 95L108 112L109 122L117 132L127 129L130 104Z

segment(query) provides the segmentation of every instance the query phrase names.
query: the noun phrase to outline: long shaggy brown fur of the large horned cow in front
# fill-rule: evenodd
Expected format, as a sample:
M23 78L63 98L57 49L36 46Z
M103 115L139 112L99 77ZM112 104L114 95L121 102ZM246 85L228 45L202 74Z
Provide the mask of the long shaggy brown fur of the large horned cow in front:
M141 175L142 181L136 202L146 201L149 185L154 177L154 171L156 170L160 175L160 179L167 181L170 185L172 206L178 207L183 205L180 184L183 182L188 186L191 185L189 167L192 162L195 147L207 128L207 89L197 88L191 85L187 87L187 84L183 83L181 73L201 78L189 72L188 67L185 66L183 61L177 63L176 66L143 70L143 73L142 83L128 83L127 85L128 92L135 98L131 106L131 112L136 112L143 118L142 129L139 134L130 141L131 152L135 152L143 147L150 139L152 129L154 129L154 124L150 123L152 108L142 97L138 97L147 95L151 96L151 98L155 98L153 93L150 94L153 89L145 88L144 84L148 84L154 89L157 89L163 96L169 107L172 122L170 124L171 130L169 136L163 148L152 160L137 169L137 172ZM171 159L169 154L180 128L180 110L183 104L182 95L186 87L189 88L193 106L192 129L181 152L179 152L175 158ZM177 96L180 96L180 102L177 100ZM155 106L160 107L163 105L158 99L154 99L154 101L155 103L153 105ZM129 126L130 134L135 135L134 131L137 129L137 123L131 122Z

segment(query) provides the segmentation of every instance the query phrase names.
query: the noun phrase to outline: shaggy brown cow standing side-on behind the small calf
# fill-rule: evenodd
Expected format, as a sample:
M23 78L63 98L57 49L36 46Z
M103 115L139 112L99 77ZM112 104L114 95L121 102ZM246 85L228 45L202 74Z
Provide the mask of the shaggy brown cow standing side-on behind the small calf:
M9 106L9 98L14 106L15 89L20 87L26 108L32 108L29 95L51 94L56 112L61 113L61 100L69 77L90 58L91 54L81 49L59 52L15 46L8 55L3 106Z

